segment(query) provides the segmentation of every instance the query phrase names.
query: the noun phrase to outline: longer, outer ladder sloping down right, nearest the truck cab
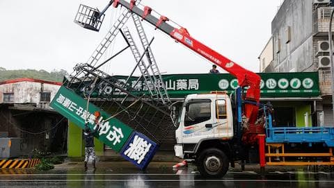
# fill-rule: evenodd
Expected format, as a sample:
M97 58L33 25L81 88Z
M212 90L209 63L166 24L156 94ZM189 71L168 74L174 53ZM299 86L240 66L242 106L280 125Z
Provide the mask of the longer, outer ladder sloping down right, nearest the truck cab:
M134 19L134 25L136 26L139 38L141 40L141 44L143 45L143 49L148 49L145 51L145 55L148 58L149 65L148 67L152 71L152 78L154 81L153 87L154 90L157 91L159 98L161 99L162 103L170 103L170 98L168 96L167 89L164 84L164 80L161 77L157 62L154 58L152 53L152 49L149 46L148 37L145 34L143 24L141 24L141 19L136 14L132 14L132 18ZM144 76L144 75L143 75Z

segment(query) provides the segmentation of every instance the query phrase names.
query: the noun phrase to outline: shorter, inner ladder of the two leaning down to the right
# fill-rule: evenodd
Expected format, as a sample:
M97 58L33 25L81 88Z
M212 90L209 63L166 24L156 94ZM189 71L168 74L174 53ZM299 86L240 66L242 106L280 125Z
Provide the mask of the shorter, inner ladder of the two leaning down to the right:
M122 31L130 46L132 54L134 55L134 59L136 60L138 64L139 71L141 71L141 75L145 82L145 86L148 88L148 91L150 92L152 99L159 99L159 91L157 91L157 88L154 87L154 80L152 79L152 76L150 75L150 71L148 70L148 67L150 67L150 65L146 65L145 61L142 60L141 53L138 51L138 48L129 31L129 28L124 27L122 28ZM136 83L138 83L138 81Z

